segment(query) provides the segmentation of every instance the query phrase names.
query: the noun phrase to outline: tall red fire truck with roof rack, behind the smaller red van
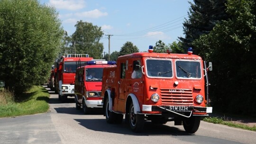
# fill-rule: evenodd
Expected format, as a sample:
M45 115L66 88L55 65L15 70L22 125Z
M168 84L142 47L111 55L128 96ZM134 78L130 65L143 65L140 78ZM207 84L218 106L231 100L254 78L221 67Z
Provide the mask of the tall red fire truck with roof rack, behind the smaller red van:
M86 65L86 62L92 59L88 54L66 54L56 62L55 92L62 102L65 102L68 96L74 97L76 63L80 61L82 65Z

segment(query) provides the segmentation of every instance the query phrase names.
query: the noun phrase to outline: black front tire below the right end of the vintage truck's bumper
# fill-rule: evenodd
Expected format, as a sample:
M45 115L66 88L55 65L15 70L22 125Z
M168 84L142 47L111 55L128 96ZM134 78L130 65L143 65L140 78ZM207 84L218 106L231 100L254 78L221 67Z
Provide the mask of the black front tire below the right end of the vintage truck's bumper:
M183 127L187 133L195 133L200 125L201 117L189 117L183 119Z

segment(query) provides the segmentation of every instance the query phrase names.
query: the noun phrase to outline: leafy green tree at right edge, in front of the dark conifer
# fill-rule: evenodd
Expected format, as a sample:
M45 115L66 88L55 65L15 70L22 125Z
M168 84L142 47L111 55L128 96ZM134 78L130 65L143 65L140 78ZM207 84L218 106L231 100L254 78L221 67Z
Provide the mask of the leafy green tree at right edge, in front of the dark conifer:
M193 42L216 65L210 73L212 105L223 112L256 116L255 8L255 0L228 0L229 19Z

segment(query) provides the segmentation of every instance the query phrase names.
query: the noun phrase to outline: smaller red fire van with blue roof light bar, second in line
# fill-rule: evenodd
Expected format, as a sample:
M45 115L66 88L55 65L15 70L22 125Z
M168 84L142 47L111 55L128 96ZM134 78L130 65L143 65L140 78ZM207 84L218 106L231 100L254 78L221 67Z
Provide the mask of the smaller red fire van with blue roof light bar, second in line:
M87 65L79 67L75 75L75 108L83 109L88 114L91 108L102 108L101 85L104 67L116 64L115 61L89 61Z

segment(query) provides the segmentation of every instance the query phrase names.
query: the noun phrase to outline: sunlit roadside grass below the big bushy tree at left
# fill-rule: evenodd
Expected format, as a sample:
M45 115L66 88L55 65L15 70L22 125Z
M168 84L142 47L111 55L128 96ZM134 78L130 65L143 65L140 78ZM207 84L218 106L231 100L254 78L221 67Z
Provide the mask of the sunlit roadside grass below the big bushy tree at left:
M42 86L30 90L14 99L13 93L0 90L0 117L16 117L47 112L50 94Z

